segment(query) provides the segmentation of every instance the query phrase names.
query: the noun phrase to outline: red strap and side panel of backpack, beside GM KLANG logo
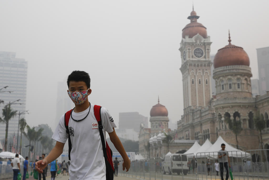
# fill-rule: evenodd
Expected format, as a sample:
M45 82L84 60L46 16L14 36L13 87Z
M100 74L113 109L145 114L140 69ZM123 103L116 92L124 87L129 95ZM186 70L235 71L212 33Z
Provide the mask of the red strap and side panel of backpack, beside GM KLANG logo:
M105 142L105 137L103 134L103 125L102 125L102 118L101 118L101 106L94 105L93 110L94 110L94 116L98 122L98 129L99 129L100 136L101 136L105 163L109 163L111 169L114 171L114 166L113 166L113 162L112 162L112 151L110 150L110 147L108 146L107 142Z

